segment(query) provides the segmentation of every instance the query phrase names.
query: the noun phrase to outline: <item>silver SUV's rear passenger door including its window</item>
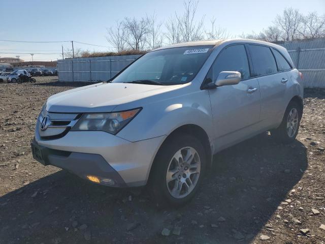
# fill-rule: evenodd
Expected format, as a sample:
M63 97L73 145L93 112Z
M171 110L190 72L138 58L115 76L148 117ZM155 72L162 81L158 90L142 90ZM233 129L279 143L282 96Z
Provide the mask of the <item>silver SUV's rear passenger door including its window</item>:
M286 72L279 72L272 48L249 44L253 76L257 77L261 90L261 120L266 128L281 121L285 99ZM280 119L280 120L279 120Z

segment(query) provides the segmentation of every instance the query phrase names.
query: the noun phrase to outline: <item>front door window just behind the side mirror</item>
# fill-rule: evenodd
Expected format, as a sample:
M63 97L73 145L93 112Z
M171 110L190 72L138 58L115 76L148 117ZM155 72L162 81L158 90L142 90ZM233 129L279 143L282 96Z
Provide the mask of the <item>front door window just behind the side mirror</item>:
M207 78L214 82L221 71L238 71L242 74L242 79L249 78L249 65L244 45L233 45L223 49L211 66Z

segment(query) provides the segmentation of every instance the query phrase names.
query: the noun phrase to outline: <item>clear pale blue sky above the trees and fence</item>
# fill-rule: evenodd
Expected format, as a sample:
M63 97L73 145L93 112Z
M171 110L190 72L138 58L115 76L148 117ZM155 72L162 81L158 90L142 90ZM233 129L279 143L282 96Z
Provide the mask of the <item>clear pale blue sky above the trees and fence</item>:
M324 0L200 0L198 17L205 15L205 26L209 27L214 16L216 23L226 28L231 35L259 32L272 24L276 14L284 8L293 7L303 14L317 11L325 14ZM106 40L106 28L124 17L144 17L154 11L159 20L182 13L182 0L80 0L3 1L1 5L0 39L19 41L63 41L75 40L102 46L110 46ZM6 11L7 10L7 11ZM14 14L14 18L13 18ZM70 43L62 43L71 48ZM75 44L75 48L105 50L106 48ZM0 42L0 52L60 52L61 43L10 43ZM16 56L3 54L0 56ZM29 54L20 54L29 60ZM35 54L35 60L56 60L58 54Z

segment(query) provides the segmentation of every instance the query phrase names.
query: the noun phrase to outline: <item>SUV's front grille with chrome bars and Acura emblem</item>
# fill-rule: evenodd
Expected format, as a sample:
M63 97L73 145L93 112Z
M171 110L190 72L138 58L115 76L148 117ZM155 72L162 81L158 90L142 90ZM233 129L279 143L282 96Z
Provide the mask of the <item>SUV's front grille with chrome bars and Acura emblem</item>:
M47 123L43 123L46 126L42 128L42 121L45 116L47 116ZM37 130L44 140L57 139L66 135L80 117L81 114L78 113L51 113L42 111L37 121Z

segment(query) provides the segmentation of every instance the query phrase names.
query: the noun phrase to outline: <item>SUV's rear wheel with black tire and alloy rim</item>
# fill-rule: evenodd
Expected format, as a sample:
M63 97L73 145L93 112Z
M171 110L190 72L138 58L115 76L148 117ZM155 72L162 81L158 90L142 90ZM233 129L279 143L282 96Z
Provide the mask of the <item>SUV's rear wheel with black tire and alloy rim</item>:
M271 136L281 143L293 142L299 131L301 117L300 105L297 102L291 101L285 110L281 125L271 131Z

